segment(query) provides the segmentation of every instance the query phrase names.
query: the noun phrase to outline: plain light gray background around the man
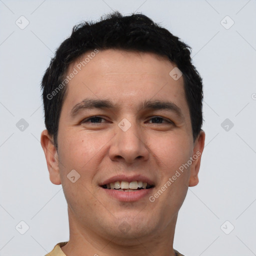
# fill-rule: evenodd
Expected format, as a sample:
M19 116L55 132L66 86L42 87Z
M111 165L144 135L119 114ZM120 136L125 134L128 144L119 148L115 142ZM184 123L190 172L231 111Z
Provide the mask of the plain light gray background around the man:
M65 198L49 181L39 143L40 80L74 24L111 10L142 12L179 36L203 77L205 149L174 248L186 256L256 255L255 0L0 0L0 255L44 255L68 240ZM21 15L24 29L15 24ZM23 131L21 118L29 124ZM227 131L226 118L234 124ZM25 230L21 220L24 234L15 229Z

